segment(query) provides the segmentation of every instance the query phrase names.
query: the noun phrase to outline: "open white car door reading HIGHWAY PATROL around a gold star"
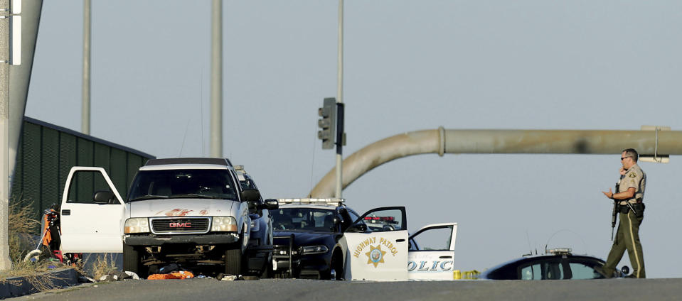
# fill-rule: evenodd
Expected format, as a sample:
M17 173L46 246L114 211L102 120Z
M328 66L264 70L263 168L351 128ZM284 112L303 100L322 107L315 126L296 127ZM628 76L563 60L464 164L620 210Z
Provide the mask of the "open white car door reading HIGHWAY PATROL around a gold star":
M341 238L348 280L407 280L405 207L371 209Z

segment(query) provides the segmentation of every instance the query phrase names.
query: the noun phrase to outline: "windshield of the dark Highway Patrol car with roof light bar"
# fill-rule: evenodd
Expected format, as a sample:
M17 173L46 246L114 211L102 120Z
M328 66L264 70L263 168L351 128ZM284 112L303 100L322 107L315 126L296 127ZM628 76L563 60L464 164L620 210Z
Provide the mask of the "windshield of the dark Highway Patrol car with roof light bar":
M272 212L275 231L333 232L334 210L316 208L280 208Z

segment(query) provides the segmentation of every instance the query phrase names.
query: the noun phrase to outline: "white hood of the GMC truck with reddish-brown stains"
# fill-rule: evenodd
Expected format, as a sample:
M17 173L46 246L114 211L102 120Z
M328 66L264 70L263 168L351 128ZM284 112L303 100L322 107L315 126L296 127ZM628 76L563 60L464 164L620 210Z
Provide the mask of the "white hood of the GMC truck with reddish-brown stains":
M234 216L236 203L229 199L147 199L128 205L129 217L215 217Z

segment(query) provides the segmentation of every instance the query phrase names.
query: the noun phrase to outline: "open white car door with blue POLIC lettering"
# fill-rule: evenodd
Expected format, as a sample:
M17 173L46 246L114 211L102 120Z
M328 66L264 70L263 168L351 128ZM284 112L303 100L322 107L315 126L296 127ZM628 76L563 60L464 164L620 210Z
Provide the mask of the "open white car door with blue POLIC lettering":
M407 273L415 280L452 280L457 223L430 224L410 236Z

